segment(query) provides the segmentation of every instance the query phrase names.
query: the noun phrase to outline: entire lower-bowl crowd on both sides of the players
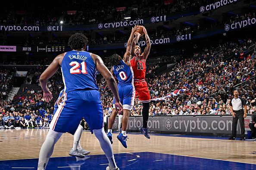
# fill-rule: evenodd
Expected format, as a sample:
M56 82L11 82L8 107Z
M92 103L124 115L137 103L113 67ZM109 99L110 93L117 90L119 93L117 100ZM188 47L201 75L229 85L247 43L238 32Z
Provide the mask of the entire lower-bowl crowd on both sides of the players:
M223 43L217 47L204 48L193 58L180 61L170 72L159 76L146 76L152 99L150 115L224 115L231 114L232 91L237 88L240 96L247 101L248 113L256 110L256 55L245 54L248 47L255 45L252 39L241 39L234 43ZM250 55L251 54L251 55ZM231 55L231 60L225 56ZM147 75L152 74L158 65L148 66ZM61 72L58 71L48 83L54 100L46 103L39 84L39 77L45 70L37 66L29 70L34 75L30 87L22 85L12 100L0 99L0 128L49 127L53 105L64 87ZM6 75L5 75L6 74ZM1 87L9 72L1 70ZM101 92L104 120L112 112L112 92L105 79L98 79ZM33 87L33 88L32 88ZM3 89L3 88L2 88ZM180 90L179 94L172 94ZM161 100L156 100L161 98ZM142 103L135 101L131 115L140 116Z

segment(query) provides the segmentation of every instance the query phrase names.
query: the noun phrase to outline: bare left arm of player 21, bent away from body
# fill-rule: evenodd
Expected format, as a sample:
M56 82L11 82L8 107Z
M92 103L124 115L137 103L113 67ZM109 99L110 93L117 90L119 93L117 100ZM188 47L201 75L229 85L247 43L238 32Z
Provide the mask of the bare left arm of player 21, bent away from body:
M50 100L53 98L52 93L49 91L49 88L47 87L48 79L50 79L51 76L53 76L56 71L60 67L60 60L64 57L64 54L58 55L56 58L54 58L53 62L47 67L46 70L41 74L39 78L39 82L41 85L41 88L44 91L44 98L47 102L50 102ZM62 61L62 60L61 60Z

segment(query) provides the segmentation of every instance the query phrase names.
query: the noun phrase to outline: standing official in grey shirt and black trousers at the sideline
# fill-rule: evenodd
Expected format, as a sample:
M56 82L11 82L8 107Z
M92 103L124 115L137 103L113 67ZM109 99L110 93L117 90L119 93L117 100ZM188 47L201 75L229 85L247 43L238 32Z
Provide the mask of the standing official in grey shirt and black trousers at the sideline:
M243 109L244 107L244 109ZM234 90L234 98L230 102L231 113L233 115L232 121L232 136L229 140L235 140L237 136L237 121L239 119L241 127L241 137L240 140L245 140L245 127L244 118L246 118L247 108L246 103L242 97L238 96L238 90Z

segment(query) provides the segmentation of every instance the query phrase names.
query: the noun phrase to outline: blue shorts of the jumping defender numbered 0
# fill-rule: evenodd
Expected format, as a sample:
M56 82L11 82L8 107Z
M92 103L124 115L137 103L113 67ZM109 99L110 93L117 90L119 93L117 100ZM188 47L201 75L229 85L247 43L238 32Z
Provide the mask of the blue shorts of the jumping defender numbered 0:
M135 88L133 85L118 85L118 93L120 102L123 105L123 109L131 110L132 106L134 106L134 98L135 98ZM114 104L116 100L113 100L113 108L115 108Z

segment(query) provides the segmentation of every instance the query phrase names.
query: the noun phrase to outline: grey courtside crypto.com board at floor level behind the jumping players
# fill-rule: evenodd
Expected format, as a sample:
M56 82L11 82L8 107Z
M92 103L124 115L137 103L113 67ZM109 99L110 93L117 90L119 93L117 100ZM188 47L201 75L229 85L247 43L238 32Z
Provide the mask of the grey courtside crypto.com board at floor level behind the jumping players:
M109 118L107 118L109 121ZM250 131L249 123L251 116L244 120L245 130ZM138 131L143 125L142 116L130 117L128 121L128 130ZM222 134L224 136L232 133L232 116L175 116L175 117L149 117L147 127L151 133L162 132L172 134ZM118 130L118 118L112 127ZM237 125L237 134L240 133L240 124Z

